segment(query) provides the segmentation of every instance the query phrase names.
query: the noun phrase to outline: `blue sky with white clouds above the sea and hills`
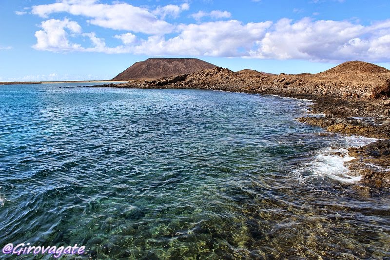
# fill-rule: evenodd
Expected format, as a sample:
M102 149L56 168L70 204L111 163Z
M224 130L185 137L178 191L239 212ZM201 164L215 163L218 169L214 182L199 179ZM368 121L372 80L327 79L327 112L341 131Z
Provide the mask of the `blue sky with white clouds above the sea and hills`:
M389 0L0 0L0 81L111 79L150 57L234 71L390 69Z

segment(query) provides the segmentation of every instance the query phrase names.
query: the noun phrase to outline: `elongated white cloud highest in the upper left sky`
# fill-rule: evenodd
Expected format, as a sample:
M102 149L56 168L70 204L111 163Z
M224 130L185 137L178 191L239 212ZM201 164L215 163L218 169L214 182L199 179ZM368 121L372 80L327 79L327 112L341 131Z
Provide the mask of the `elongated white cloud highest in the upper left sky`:
M160 13L175 15L173 6L161 7ZM178 7L188 8L188 4ZM164 20L159 20L146 8L128 3L102 4L97 0L62 0L53 4L35 5L32 13L42 18L48 18L52 13L67 12L76 16L91 18L91 24L114 30L126 30L146 34L165 34L172 32L174 26Z

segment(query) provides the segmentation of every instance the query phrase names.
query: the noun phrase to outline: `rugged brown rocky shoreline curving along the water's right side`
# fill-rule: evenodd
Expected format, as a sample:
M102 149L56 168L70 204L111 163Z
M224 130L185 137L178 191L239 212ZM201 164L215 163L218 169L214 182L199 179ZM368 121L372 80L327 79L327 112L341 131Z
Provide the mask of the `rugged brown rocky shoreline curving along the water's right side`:
M351 175L362 176L362 183L390 187L390 71L366 62L346 63L317 75L266 75L250 70L237 73L216 67L158 80L94 87L196 88L315 100L312 113L321 117L299 121L331 132L384 139L360 148L351 147L349 153L355 159L349 167Z

